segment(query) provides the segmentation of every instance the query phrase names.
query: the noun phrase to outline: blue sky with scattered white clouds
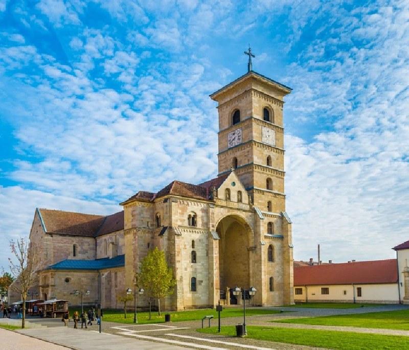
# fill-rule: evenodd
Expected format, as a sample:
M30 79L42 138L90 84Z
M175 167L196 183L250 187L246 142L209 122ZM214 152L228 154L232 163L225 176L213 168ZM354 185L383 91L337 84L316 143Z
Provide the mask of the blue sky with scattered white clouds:
M409 239L407 1L0 0L0 266L35 207L110 214L217 172L209 94L254 70L286 98L294 258Z

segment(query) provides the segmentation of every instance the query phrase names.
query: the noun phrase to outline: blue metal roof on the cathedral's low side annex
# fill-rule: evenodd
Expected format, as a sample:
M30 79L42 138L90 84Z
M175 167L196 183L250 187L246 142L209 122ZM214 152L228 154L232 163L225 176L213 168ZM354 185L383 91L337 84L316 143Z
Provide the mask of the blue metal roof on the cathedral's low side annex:
M50 265L47 270L103 270L113 267L125 266L125 255L117 255L115 258L95 260L66 259L57 264Z

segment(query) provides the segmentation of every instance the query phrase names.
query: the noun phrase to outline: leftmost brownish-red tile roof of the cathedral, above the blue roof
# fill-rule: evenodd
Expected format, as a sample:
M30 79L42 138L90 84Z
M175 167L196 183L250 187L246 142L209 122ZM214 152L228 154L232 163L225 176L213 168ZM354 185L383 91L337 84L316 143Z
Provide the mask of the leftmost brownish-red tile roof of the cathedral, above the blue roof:
M103 215L38 209L48 234L94 237L105 219Z

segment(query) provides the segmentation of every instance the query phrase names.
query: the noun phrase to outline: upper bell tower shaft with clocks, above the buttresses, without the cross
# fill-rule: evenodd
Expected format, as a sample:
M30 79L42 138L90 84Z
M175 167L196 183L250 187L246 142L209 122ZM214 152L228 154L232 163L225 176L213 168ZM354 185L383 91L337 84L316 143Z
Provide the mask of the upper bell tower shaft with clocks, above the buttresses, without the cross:
M214 92L218 102L218 173L236 174L262 211L285 212L284 96L291 88L254 71Z

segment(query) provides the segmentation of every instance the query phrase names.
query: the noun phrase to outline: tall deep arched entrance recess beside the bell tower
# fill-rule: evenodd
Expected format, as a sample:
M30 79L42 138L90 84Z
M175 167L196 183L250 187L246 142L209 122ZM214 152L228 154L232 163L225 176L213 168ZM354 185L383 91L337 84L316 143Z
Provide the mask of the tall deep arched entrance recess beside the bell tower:
M248 287L250 281L250 259L247 247L251 228L238 216L223 218L216 227L219 241L220 298L237 304L229 292L235 286Z

